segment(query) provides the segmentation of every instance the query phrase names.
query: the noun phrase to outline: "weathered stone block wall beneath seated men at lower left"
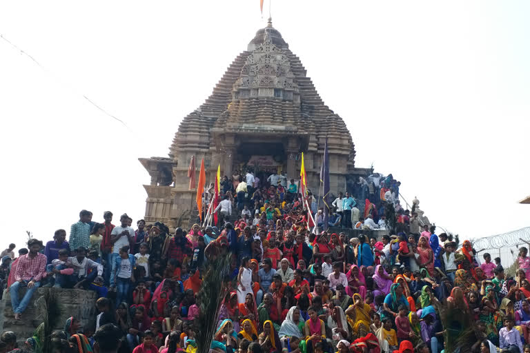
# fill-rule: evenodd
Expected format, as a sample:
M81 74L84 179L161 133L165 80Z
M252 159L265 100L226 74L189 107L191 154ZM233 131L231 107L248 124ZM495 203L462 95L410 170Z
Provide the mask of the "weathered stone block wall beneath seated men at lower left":
M22 299L26 288L19 292ZM62 330L70 316L81 320L81 327L95 327L96 293L89 290L63 290L61 288L39 288L35 291L20 321L14 320L9 290L0 301L0 332L13 331L19 343L33 336L35 329L43 322L42 308L36 305L43 297L48 307L48 323L52 330Z

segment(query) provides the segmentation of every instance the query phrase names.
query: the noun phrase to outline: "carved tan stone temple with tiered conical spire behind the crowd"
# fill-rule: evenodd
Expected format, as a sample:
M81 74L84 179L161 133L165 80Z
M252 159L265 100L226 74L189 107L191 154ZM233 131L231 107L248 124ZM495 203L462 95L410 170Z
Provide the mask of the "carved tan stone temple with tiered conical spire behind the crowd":
M175 228L196 207L196 190L188 188L193 155L197 170L204 158L209 183L217 165L222 177L252 168L261 180L277 170L288 179L300 179L304 152L308 188L317 194L326 138L331 191L336 194L371 170L355 168L346 124L324 104L302 62L269 19L204 104L181 121L169 157L139 159L151 177L150 185L144 185L145 219Z

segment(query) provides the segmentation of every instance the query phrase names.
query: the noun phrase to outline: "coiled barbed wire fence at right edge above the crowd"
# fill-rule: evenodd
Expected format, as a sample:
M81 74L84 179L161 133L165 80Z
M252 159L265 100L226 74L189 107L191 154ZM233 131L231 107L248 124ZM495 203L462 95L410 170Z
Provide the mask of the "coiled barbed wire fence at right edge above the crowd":
M504 270L508 274L514 275L518 267L515 263L519 256L519 248L522 246L529 248L530 246L530 227L473 239L471 243L473 244L473 249L478 252L476 258L479 263L484 262L483 255L489 253L491 261L495 257L499 257Z

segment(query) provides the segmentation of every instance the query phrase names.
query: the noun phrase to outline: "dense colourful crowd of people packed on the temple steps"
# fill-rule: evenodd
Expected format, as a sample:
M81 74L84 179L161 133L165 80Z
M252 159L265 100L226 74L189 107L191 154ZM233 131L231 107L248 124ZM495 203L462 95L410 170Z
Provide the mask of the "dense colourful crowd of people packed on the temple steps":
M530 352L526 248L516 276L509 277L500 259L483 254L479 265L469 241L460 245L435 234L434 225L416 228L414 214L405 212L396 212L396 228L380 239L362 232L350 238L346 230L315 234L295 183L283 188L277 175L279 186L263 192L249 192L255 181L248 178L237 185L225 180L219 228L195 224L170 232L164 223L139 220L134 229L127 214L114 225L112 212L97 223L82 210L68 241L59 229L46 244L30 239L17 258L10 245L2 252L0 276L15 321L23 319L39 287L93 290L99 314L89 327L70 317L51 336L37 329L18 348L15 334L3 332L0 353L40 353L46 339L57 353L194 353L210 246L230 252L235 281L219 307L210 352ZM381 178L377 188L392 180ZM393 192L380 194L378 203L398 208ZM337 199L333 213L351 219L345 211L358 200ZM378 207L365 199L363 218L386 227ZM241 214L226 222L232 208ZM20 298L22 287L28 291Z

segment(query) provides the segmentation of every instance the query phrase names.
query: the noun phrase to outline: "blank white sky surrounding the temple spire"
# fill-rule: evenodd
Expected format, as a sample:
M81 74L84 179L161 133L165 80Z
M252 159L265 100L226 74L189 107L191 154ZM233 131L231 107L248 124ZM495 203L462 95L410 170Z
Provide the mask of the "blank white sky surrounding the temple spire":
M529 225L529 1L273 0L273 26L346 121L356 165L402 181L462 239ZM2 1L1 248L48 241L79 210L144 215L138 157L255 32L258 0ZM128 125L106 116L86 95ZM410 202L410 201L409 201ZM117 219L115 219L115 223Z

